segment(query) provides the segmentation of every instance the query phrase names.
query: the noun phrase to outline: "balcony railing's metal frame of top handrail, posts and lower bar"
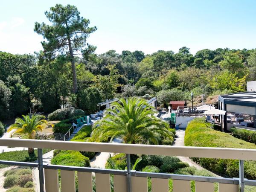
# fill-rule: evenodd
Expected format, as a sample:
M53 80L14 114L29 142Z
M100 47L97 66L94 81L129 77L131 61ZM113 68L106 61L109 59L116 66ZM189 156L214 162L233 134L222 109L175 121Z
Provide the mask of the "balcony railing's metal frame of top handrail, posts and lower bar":
M241 192L244 185L256 186L256 180L244 178L244 160L256 160L256 149L241 148L210 148L210 147L177 147L169 145L139 145L139 144L119 144L119 143L90 143L90 142L70 142L51 140L13 140L0 139L0 146L10 147L34 147L38 148L38 163L24 163L15 161L0 160L0 164L38 167L40 176L40 191L44 192L44 169L61 169L79 172L95 172L114 175L126 175L128 178L127 191L131 192L131 177L151 177L151 178L172 178L176 180L195 180L203 182L217 182L236 184L240 186ZM100 151L125 153L127 157L127 170L99 169L89 167L59 166L43 163L42 148L74 150L74 151ZM176 175L168 173L137 172L131 170L130 154L155 154L184 157L207 157L239 160L239 178L204 177L195 175ZM124 186L125 187L125 186Z

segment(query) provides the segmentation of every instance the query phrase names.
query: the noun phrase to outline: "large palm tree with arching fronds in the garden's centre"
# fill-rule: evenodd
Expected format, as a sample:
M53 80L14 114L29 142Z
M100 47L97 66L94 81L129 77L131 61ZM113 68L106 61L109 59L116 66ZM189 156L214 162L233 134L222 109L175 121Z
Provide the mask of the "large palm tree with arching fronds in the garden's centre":
M105 117L95 123L91 140L100 142L111 137L120 137L123 143L154 143L158 144L160 137L171 138L168 123L154 116L144 99L120 99L111 105Z

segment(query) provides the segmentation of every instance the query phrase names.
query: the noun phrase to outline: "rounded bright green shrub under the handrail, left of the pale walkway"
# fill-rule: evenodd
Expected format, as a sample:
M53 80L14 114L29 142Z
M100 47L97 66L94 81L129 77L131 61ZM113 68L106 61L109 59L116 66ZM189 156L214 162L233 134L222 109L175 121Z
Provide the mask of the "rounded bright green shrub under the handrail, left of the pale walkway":
M79 151L60 151L52 158L54 165L89 167L90 160Z

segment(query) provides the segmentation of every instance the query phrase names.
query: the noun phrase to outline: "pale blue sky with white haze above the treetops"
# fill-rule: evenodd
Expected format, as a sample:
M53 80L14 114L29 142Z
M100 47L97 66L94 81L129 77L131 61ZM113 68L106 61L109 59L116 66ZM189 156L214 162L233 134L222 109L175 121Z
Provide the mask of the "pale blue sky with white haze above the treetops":
M87 39L97 54L256 48L256 0L9 0L0 3L0 51L41 50L34 24L56 3L75 5L97 27Z

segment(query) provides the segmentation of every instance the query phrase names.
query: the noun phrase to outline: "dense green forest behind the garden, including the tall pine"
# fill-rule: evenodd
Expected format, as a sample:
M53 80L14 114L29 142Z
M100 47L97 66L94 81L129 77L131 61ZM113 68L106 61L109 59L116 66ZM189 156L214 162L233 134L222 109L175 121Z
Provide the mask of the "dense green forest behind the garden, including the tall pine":
M52 23L35 23L43 49L34 55L0 52L0 119L32 111L50 113L73 106L88 113L96 103L122 96L157 96L195 100L244 91L256 79L256 49L203 49L178 52L115 50L95 54L87 43L97 28L80 16L75 6L56 5L45 12ZM39 42L38 42L39 43Z

